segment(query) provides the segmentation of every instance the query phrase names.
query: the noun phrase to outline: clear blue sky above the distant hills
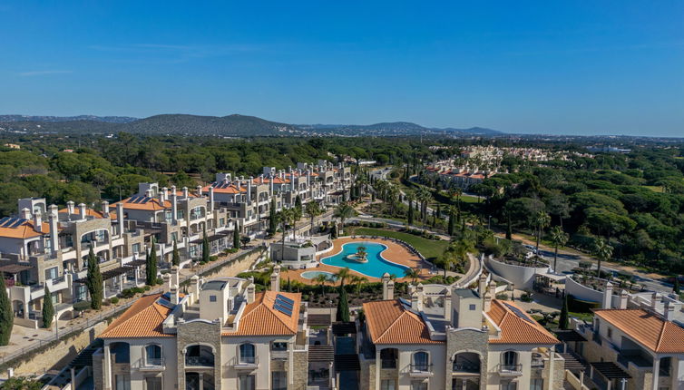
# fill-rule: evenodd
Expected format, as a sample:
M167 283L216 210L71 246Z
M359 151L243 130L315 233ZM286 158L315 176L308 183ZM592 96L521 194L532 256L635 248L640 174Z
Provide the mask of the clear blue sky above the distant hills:
M684 136L679 0L104 3L0 3L0 113Z

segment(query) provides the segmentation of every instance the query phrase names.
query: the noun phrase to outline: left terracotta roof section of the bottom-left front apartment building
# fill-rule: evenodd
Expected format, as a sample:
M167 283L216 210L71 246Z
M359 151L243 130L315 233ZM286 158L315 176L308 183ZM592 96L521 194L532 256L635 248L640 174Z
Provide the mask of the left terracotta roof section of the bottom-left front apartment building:
M173 337L175 335L162 332L162 323L171 313L171 308L157 303L161 294L152 294L138 298L121 317L116 318L104 329L102 338L140 338L140 337Z

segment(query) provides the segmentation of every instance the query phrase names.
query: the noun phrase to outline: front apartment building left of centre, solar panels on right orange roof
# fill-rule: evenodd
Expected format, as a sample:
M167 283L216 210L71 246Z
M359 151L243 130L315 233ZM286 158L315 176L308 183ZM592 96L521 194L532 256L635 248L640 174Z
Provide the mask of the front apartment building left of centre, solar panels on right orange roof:
M95 389L306 389L307 304L243 278L191 278L140 298L100 336Z

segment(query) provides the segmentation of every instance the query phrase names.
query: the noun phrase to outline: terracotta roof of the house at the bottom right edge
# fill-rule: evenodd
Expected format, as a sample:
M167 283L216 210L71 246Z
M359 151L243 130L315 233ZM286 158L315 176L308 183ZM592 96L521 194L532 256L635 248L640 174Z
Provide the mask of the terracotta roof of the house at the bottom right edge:
M596 309L594 314L652 352L684 353L684 329L656 314L641 309Z

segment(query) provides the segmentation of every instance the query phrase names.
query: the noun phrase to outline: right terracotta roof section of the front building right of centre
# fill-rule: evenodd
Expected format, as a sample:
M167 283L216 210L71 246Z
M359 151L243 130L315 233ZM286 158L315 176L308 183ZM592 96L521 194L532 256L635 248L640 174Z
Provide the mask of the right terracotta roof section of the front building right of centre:
M522 315L520 317L518 314ZM501 328L501 336L489 340L491 344L558 344L559 341L513 302L492 301L487 312L493 323Z

